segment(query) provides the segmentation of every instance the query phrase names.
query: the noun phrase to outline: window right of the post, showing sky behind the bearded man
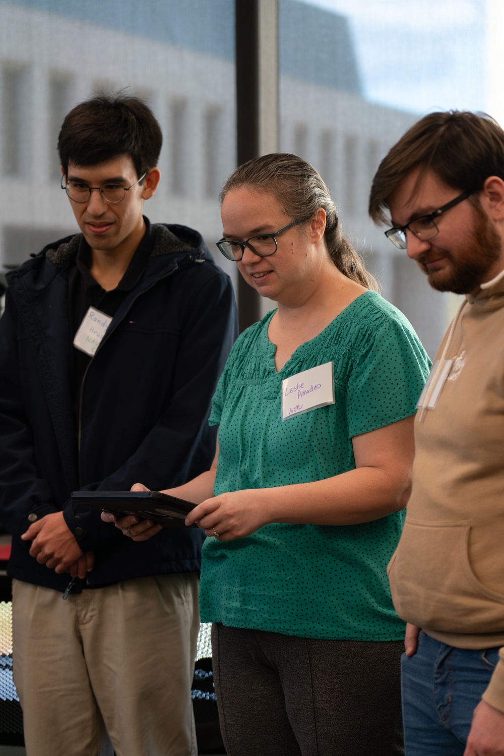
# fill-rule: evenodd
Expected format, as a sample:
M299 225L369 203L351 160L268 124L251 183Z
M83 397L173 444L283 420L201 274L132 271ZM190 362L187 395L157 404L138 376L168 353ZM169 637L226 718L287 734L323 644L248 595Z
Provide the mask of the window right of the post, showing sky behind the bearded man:
M320 171L343 233L433 357L453 296L430 290L404 253L387 248L367 215L369 189L390 147L425 113L504 114L502 2L279 0L279 11L280 150Z

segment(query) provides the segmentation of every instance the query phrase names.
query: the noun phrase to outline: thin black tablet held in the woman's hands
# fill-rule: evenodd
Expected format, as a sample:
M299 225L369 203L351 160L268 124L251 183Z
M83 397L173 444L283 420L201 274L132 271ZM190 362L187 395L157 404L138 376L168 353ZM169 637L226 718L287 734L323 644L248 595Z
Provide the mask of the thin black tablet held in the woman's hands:
M73 491L71 499L92 509L113 512L118 517L136 515L163 528L185 528L184 519L196 507L192 501L159 491ZM190 526L197 528L196 523Z

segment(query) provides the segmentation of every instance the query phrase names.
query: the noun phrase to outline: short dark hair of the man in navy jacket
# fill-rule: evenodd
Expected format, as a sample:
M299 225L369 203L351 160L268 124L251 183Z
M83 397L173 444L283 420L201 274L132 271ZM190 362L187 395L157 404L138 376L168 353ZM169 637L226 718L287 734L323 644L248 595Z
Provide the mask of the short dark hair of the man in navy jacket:
M96 166L129 155L138 178L157 165L162 133L152 110L140 98L119 91L79 103L63 120L57 149L63 171L68 164Z

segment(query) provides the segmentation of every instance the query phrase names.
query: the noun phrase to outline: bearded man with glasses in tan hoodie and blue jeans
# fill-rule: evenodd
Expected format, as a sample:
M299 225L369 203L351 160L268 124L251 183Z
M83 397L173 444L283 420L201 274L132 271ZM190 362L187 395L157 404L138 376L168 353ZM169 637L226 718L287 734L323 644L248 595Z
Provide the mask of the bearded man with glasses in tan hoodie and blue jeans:
M406 756L502 756L504 132L475 113L425 116L380 164L369 212L431 287L465 295L419 398L389 565L408 622Z

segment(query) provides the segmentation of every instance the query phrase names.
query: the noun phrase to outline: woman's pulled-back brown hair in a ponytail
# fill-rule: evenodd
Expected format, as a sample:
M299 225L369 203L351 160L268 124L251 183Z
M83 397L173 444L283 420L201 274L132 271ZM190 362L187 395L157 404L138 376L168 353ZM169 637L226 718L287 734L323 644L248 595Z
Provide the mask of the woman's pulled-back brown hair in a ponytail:
M378 290L375 278L366 271L354 247L342 236L338 215L329 189L310 163L289 153L271 153L243 163L227 178L220 199L230 189L247 187L277 197L288 218L311 218L322 207L326 211L324 240L327 251L345 276L366 289Z

